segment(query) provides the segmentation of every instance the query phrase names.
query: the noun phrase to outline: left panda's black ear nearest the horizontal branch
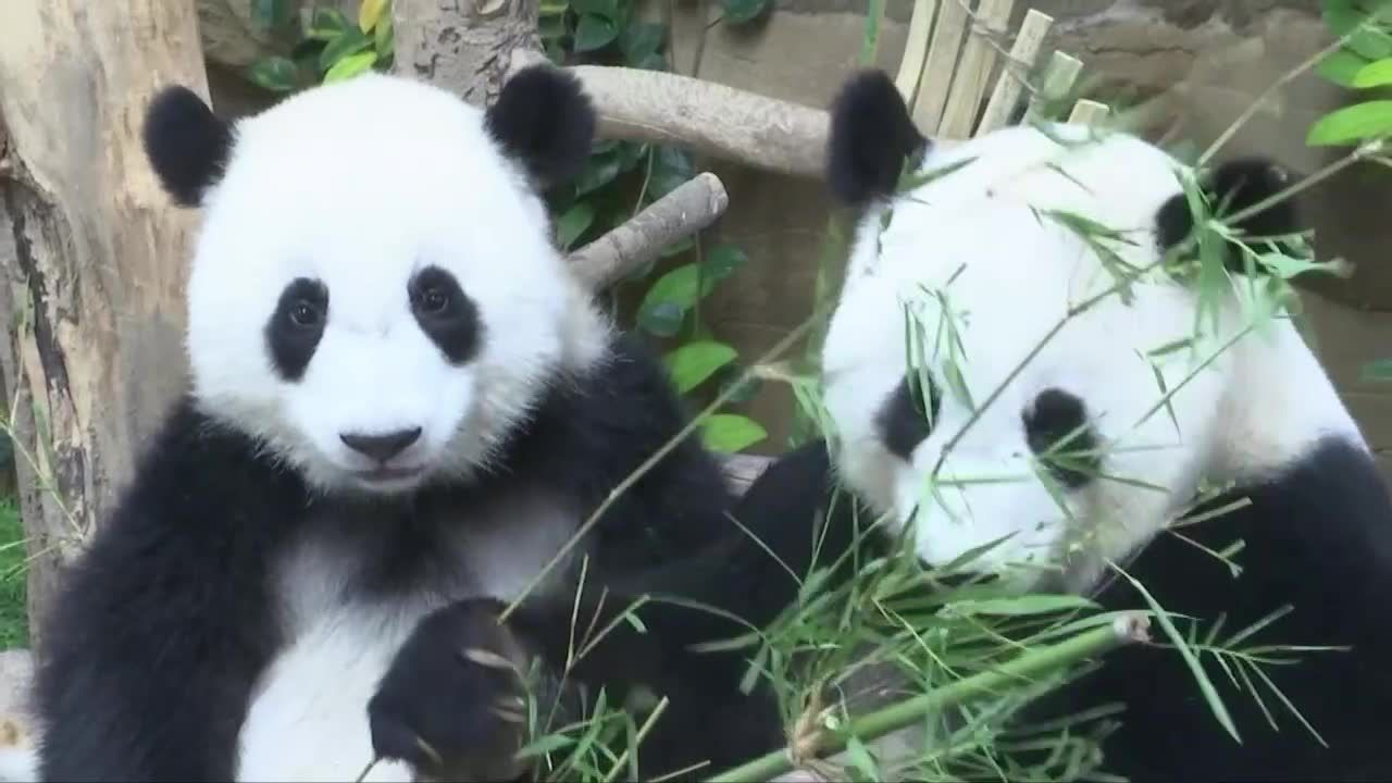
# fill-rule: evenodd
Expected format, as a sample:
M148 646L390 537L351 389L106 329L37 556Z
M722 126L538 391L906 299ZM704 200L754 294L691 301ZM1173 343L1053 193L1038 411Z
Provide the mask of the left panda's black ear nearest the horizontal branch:
M594 107L571 74L530 65L489 107L489 134L543 188L576 176L594 141Z

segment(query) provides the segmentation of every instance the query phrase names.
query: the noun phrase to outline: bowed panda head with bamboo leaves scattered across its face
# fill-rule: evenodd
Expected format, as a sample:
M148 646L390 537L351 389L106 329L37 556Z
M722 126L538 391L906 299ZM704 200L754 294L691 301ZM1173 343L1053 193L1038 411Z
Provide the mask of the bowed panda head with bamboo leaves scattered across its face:
M1079 127L938 149L870 72L834 104L828 166L834 194L864 209L823 352L837 464L877 511L915 521L928 563L1001 541L979 567L1034 564L1009 573L1076 587L1201 481L1268 478L1329 435L1361 444L1292 323L1249 329L1261 280L1240 254L1226 248L1211 308L1166 273L1194 212L1161 149ZM1283 187L1237 160L1194 192L1231 215ZM1282 202L1240 228L1260 244L1293 220ZM1139 269L1153 273L1118 291Z

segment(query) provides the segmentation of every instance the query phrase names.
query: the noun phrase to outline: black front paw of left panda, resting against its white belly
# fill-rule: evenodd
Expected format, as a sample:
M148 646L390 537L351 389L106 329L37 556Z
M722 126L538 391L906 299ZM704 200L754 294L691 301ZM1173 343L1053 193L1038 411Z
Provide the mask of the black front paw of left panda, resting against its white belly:
M436 780L503 780L522 773L525 651L491 599L425 617L367 702L373 750Z

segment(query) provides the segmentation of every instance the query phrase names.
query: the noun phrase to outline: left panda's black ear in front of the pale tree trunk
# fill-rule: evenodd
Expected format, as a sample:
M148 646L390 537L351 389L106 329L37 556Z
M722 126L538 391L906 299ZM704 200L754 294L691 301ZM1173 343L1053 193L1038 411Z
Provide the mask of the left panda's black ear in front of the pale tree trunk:
M198 206L223 174L232 131L193 91L174 85L146 109L143 141L164 189L180 205Z

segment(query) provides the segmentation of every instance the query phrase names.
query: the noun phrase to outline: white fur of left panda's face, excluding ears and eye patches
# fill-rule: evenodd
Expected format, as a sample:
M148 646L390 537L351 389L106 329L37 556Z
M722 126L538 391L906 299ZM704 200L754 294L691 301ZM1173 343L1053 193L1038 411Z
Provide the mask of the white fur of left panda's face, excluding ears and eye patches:
M479 109L367 74L234 132L189 279L193 389L209 414L259 435L312 482L349 486L370 467L340 433L411 426L423 433L393 467L469 472L536 401L543 372L601 354L608 325ZM479 308L482 350L464 366L411 315L406 283L426 265L451 272ZM285 383L263 327L295 277L327 286L329 318L303 379Z

